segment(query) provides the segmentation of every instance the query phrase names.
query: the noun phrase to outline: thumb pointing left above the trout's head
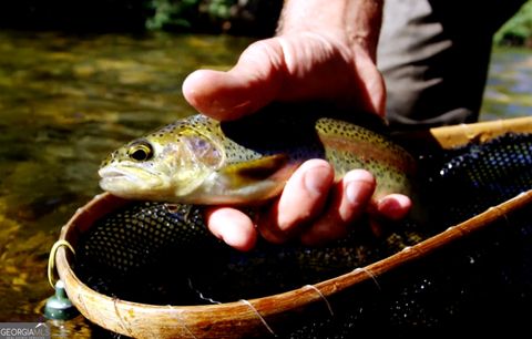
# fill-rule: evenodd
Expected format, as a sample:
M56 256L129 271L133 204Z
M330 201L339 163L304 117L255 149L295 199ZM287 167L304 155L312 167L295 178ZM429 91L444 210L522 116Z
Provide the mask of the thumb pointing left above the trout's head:
M250 44L227 72L198 70L183 83L183 95L197 111L233 120L272 102L283 83L283 50L274 39Z

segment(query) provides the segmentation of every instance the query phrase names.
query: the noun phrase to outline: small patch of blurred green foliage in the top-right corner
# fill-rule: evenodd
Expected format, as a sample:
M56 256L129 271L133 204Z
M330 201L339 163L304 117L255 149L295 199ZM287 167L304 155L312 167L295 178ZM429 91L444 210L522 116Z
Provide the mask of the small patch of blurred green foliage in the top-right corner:
M521 7L512 19L495 33L495 44L532 47L532 1Z

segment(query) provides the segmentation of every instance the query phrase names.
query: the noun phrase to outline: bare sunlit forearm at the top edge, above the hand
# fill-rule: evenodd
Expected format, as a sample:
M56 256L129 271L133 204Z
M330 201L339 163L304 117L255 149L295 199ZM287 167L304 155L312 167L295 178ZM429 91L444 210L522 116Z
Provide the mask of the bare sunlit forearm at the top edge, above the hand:
M375 60L383 0L286 0L278 34L313 31L342 35Z

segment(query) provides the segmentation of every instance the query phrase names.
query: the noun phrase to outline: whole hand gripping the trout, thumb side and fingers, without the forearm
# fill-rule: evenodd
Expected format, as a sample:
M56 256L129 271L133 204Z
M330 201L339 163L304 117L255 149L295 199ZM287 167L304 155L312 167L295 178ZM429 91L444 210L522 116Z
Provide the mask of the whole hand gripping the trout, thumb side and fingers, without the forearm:
M218 120L238 119L273 101L321 100L380 115L385 110L385 85L375 55L341 34L313 31L258 41L228 72L192 73L183 93L200 112ZM208 227L241 250L254 247L257 230L269 242L299 237L314 245L346 235L364 213L398 219L410 208L403 195L374 201L376 182L367 171L354 170L338 183L334 177L327 162L310 160L256 219L239 209L216 207L207 212Z

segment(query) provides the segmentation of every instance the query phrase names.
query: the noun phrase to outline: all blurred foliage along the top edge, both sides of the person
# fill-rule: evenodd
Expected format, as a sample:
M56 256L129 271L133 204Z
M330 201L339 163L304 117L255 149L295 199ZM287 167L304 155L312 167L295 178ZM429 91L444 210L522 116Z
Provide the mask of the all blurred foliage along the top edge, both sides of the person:
M265 37L283 0L0 1L0 28L65 32L174 31ZM482 3L479 2L479 14ZM311 20L311 18L309 18ZM497 44L532 47L532 1L495 34Z

